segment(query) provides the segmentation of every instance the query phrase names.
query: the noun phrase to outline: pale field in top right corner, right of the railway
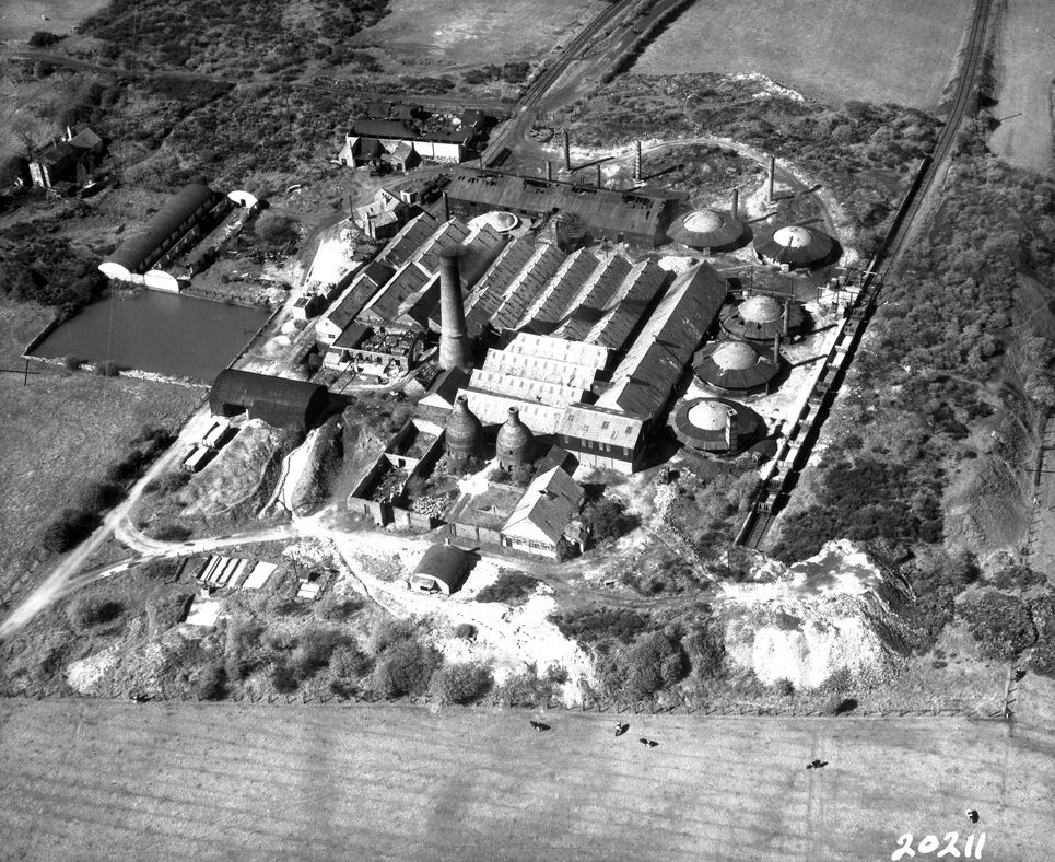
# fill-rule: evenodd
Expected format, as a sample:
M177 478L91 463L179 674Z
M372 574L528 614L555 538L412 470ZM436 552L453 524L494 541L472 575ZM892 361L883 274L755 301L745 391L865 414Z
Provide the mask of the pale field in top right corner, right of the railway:
M1013 0L1001 15L998 42L998 118L989 148L1019 167L1052 166L1052 78L1055 14L1050 0Z

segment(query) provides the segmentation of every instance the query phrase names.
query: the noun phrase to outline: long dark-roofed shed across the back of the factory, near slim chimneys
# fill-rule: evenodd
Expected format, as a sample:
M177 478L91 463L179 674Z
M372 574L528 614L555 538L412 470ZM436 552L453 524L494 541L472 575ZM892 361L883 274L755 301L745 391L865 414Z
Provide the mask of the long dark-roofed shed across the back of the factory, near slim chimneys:
M529 219L575 215L596 237L655 247L664 242L673 200L641 190L619 191L499 171L460 168L447 186L450 212L472 218L491 210Z

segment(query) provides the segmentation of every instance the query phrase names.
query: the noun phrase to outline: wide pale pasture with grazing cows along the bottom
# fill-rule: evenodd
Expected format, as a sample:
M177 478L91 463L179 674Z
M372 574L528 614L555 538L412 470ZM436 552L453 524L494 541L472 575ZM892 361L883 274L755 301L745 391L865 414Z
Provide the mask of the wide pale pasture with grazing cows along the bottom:
M880 860L904 832L959 831L962 852L969 807L983 859L1050 840L1051 731L558 712L537 735L528 718L4 701L4 855ZM814 757L830 765L805 770Z

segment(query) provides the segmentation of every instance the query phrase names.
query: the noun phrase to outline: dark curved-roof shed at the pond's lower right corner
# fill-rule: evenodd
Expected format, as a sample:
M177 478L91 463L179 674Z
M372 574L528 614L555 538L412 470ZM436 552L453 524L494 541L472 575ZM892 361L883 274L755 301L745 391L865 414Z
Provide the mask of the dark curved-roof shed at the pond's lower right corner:
M325 386L270 374L226 369L216 375L209 392L213 416L261 419L272 428L315 428L329 405Z

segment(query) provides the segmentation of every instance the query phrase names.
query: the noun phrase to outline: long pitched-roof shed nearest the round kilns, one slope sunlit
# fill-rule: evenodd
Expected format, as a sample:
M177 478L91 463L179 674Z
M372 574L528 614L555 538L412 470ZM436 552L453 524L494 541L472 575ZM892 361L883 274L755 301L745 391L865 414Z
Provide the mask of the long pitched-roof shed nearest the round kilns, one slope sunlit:
M614 385L597 399L598 406L647 419L663 410L727 292L708 264L679 275L616 368Z

